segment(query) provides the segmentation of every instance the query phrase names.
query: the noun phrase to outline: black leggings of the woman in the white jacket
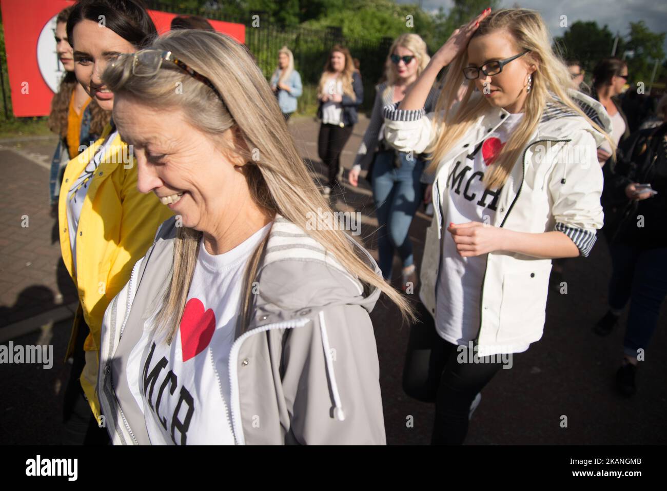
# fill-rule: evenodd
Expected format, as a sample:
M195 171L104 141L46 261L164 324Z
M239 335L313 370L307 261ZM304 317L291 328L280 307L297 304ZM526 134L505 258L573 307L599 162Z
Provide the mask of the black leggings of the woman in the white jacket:
M436 403L432 445L460 445L468 433L470 404L503 365L459 363L459 356L468 360L468 348L460 354L456 345L440 338L421 302L417 314L420 320L410 328L403 390L422 402Z

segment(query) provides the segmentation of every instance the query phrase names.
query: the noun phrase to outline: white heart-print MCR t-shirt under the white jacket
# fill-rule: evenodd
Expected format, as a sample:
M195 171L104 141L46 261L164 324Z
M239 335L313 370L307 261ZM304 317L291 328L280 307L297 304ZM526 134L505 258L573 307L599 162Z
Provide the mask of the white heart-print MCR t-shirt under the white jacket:
M468 346L468 342L477 336L487 254L462 258L456 250L452 234L446 228L451 222L493 222L500 189L487 190L482 179L486 167L494 161L522 117L523 113L508 115L502 125L486 137L474 159L466 158L450 168L443 198L448 200L448 207L443 225L442 263L436 286L436 329L441 338L452 344ZM526 351L528 345L513 348L512 352L520 353ZM494 352L485 350L484 354Z

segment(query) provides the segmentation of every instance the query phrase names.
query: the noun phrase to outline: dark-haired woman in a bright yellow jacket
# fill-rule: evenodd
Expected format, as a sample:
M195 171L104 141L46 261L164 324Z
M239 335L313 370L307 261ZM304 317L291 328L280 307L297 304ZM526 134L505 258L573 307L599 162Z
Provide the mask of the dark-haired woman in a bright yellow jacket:
M82 0L73 7L67 37L75 74L102 109L113 109L113 93L101 81L107 63L141 49L156 35L153 21L134 0ZM113 121L99 140L67 163L58 205L60 244L80 305L66 355L74 363L65 390L63 443L108 442L95 394L102 317L171 214L157 196L137 191L132 149Z

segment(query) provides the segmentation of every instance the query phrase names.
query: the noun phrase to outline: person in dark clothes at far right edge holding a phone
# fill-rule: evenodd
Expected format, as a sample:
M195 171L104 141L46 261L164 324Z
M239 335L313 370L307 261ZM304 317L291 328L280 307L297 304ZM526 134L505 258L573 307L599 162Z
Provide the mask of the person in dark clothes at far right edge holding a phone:
M612 256L609 307L594 331L610 334L630 302L616 372L616 388L629 397L637 390L638 360L645 359L667 296L667 117L659 127L633 133L620 155L608 184L604 225Z

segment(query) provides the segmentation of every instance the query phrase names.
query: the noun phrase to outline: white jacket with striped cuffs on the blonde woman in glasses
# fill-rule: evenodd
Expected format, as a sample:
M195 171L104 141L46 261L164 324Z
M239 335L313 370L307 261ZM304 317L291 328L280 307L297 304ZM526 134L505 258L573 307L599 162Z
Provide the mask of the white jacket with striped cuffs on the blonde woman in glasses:
M574 91L570 95L602 128L611 128L600 103ZM472 98L471 103L475 103ZM425 115L424 109L400 111L397 107L385 108L387 141L400 151L422 153L436 137L434 113ZM432 193L436 212L426 231L420 275L420 298L434 316L440 241L447 233L442 217L447 213L450 167L474 158L478 145L508 114L500 107L489 106L438 163ZM588 256L596 230L602 227L602 170L596 152L602 141L602 133L572 109L547 105L522 160L516 162L500 190L491 225L529 233L562 231L582 256ZM475 340L480 356L487 350L498 352L500 346L526 346L542 338L550 271L548 259L512 252L488 254L480 297L480 330Z

